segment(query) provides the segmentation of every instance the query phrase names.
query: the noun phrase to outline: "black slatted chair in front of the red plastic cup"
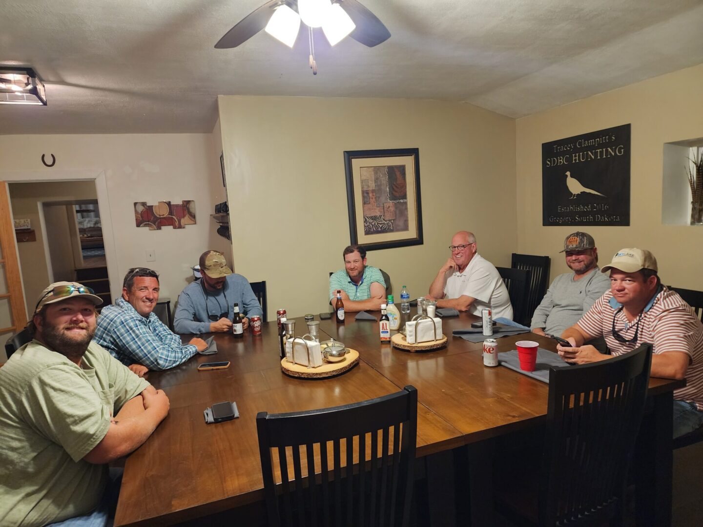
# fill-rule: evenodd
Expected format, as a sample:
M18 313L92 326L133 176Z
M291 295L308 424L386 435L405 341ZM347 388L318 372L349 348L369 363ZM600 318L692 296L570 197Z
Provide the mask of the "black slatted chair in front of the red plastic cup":
M602 362L550 369L541 464L516 475L513 463L510 476L496 478L505 486L498 512L550 527L621 520L651 363L652 345L642 344Z

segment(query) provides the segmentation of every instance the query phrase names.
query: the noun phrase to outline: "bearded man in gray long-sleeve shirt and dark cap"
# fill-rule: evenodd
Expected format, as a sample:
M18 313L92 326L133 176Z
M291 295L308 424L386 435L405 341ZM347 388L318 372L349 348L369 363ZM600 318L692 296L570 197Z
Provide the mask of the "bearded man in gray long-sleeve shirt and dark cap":
M591 235L568 235L562 252L574 272L557 276L549 286L532 316L530 327L536 334L562 334L610 289L610 278L599 272L598 249Z

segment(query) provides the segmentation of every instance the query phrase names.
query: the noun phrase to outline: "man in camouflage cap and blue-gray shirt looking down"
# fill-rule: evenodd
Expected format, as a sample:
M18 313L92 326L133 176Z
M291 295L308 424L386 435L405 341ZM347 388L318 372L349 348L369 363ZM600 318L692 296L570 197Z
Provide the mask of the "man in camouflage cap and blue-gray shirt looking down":
M181 292L174 316L176 333L216 333L232 330L233 305L245 317L262 315L262 308L252 286L242 275L228 268L224 255L205 251L200 255L202 278ZM244 329L249 325L243 321Z

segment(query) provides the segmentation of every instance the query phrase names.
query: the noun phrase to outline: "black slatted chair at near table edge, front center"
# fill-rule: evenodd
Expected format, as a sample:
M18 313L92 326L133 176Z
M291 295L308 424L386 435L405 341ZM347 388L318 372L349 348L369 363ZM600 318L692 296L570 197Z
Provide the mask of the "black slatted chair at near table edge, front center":
M259 412L269 526L408 525L417 421L413 386L335 408Z

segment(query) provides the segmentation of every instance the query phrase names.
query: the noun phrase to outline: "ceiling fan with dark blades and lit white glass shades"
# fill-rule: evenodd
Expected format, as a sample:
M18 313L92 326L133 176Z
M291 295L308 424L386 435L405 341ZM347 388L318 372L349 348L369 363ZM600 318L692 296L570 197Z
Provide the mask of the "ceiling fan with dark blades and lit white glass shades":
M215 47L236 48L265 28L266 33L292 48L301 21L308 27L310 67L314 74L317 74L314 27L322 27L332 46L349 35L372 48L391 36L383 22L356 0L269 0L226 32Z

